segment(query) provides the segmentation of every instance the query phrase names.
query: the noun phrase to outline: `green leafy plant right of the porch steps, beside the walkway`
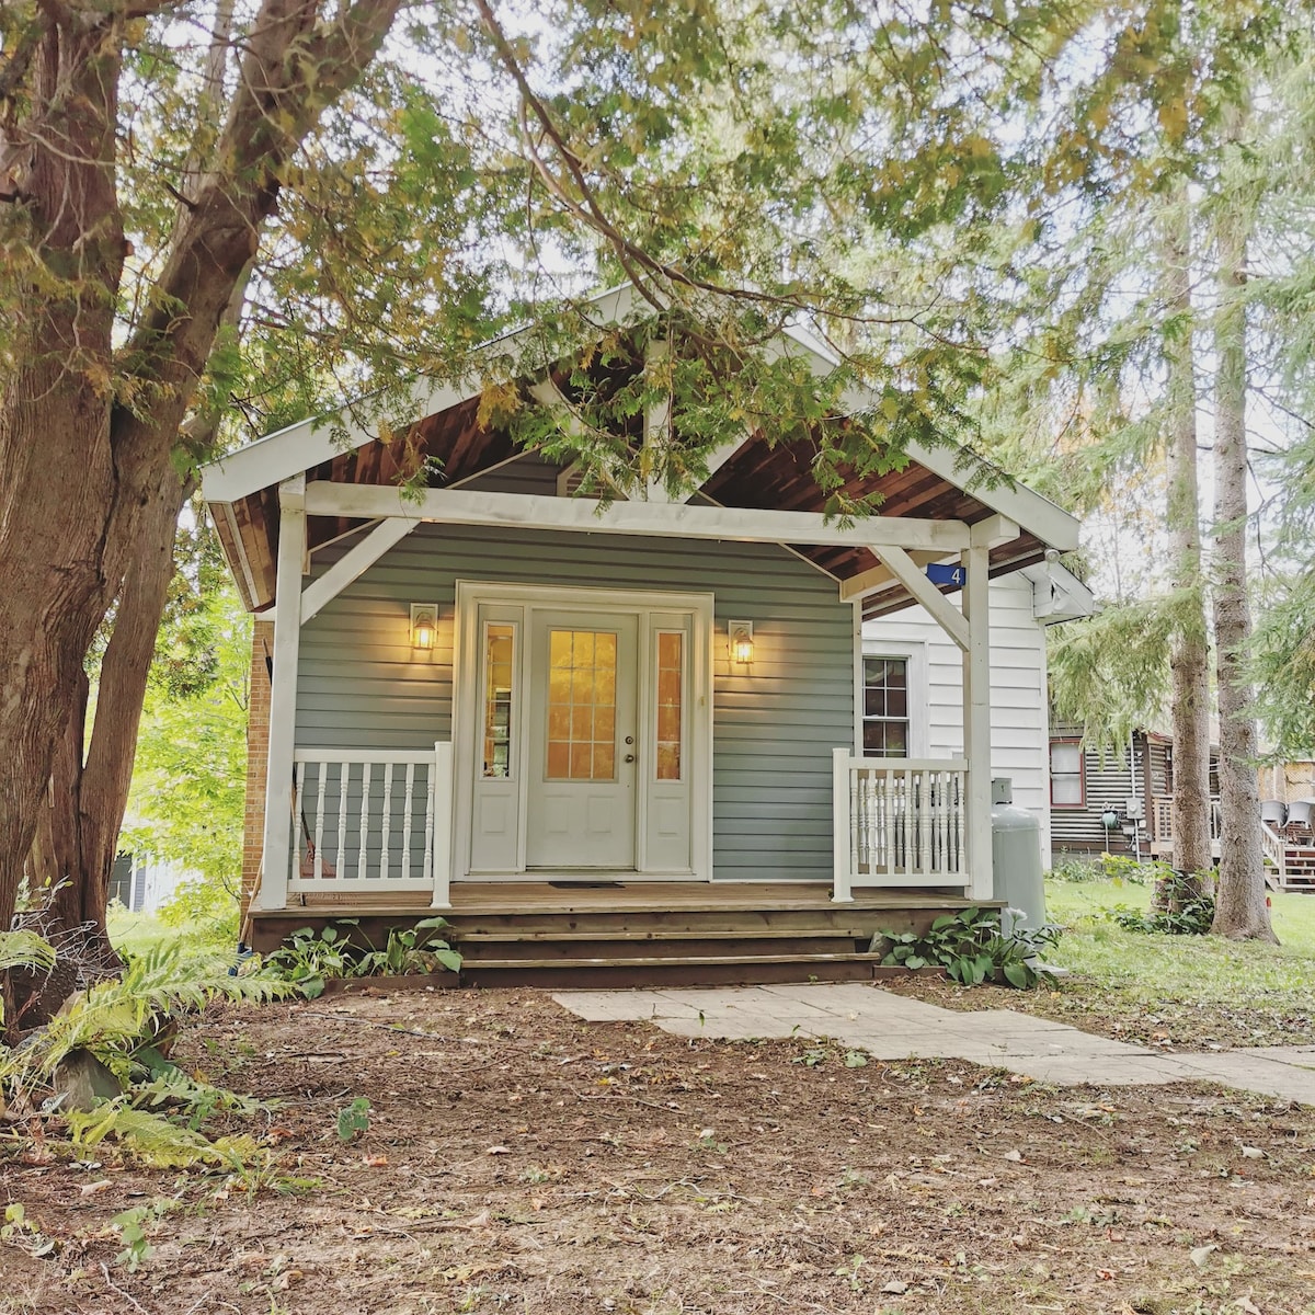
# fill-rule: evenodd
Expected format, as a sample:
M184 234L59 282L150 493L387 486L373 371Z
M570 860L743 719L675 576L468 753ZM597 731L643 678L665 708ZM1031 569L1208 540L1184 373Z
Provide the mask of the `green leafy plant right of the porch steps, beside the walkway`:
M1059 943L1060 928L1022 927L1015 918L1006 934L995 910L972 907L943 914L920 936L913 931L882 931L880 938L890 947L881 960L888 967L917 972L938 965L964 986L998 977L1010 986L1028 990L1041 981L1055 980L1041 959Z

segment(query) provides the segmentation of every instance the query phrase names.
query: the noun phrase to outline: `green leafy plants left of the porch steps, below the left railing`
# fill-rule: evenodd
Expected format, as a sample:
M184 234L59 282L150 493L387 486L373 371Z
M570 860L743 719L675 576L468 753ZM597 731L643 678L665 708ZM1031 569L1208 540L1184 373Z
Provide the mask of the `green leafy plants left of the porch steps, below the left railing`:
M460 972L462 956L437 932L446 918L422 918L410 927L391 927L381 947L360 931L356 918L341 918L321 931L292 932L266 967L291 982L306 999L323 994L325 982L342 977L404 977L410 973ZM358 943L359 942L359 943Z

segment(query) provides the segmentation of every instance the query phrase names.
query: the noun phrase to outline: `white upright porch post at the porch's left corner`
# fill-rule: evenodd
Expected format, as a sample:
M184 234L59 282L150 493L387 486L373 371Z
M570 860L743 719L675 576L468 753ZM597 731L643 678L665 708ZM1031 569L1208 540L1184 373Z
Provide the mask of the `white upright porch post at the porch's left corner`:
M306 548L306 479L279 485L279 571L274 605L274 676L270 681L270 759L264 796L264 869L258 909L288 907L292 864L292 748L297 721L297 651L301 644L301 567Z

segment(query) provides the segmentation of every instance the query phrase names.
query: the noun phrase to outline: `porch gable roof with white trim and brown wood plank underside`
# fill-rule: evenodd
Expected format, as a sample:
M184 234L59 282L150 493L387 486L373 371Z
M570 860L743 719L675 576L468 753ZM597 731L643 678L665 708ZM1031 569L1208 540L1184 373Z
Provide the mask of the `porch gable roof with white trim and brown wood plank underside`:
M593 306L601 323L613 325L634 323L639 309L629 287L602 293ZM509 334L498 343L506 346L518 337ZM777 350L802 355L818 377L836 366L835 358L803 330L785 330ZM455 488L521 456L523 450L515 447L505 429L480 422L480 393L473 370L466 383L455 385L422 380L412 391L414 422L392 442L380 442L372 429L345 409L288 426L205 467L203 493L246 605L259 610L274 600L279 484L284 480L305 475L308 481L392 485L414 469L419 452L441 463L441 487ZM876 404L876 396L853 389L846 402L852 414L859 414ZM814 455L807 441L771 444L760 433L746 435L744 443L701 485L700 501L727 508L822 513L828 494L814 477ZM922 443L911 443L907 456L899 471L851 473L844 492L855 497L876 496L882 519L914 517L976 525L998 514L1016 523L1016 537L992 548L992 575L1041 562L1051 548L1077 547L1078 522L1072 515L984 463L976 463L969 475L957 468L963 464L961 452ZM973 475L986 477L974 480ZM364 523L312 515L309 548L314 552ZM852 544L790 547L836 580L852 579L878 565L869 550ZM907 592L892 581L865 600L864 614L880 615L909 601Z

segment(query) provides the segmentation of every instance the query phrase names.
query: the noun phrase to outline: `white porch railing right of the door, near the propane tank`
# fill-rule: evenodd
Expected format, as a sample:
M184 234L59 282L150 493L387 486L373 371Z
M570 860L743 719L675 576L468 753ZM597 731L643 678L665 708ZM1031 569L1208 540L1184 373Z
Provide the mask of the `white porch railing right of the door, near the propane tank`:
M832 757L832 898L855 886L969 886L965 759Z

